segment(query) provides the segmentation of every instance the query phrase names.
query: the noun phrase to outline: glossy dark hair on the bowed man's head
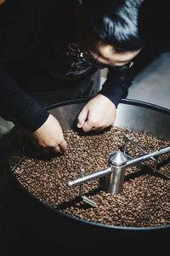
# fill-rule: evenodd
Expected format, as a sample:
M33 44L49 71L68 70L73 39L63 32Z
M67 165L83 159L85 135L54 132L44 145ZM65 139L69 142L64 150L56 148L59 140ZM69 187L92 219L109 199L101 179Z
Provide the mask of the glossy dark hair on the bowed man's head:
M95 51L99 42L111 44L116 51L142 47L139 38L141 0L84 0L77 16L82 49Z

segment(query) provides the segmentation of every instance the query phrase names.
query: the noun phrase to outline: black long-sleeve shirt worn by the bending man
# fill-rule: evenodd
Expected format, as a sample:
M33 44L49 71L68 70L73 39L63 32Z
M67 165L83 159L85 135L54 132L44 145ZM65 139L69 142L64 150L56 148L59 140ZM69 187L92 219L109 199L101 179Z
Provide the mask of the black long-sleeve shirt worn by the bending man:
M28 131L36 131L48 119L48 112L8 73L8 66L22 66L31 59L54 79L73 83L96 71L78 55L75 8L75 0L8 0L0 5L0 115L4 119ZM99 93L117 106L127 96L135 73L135 65L128 73L111 68Z

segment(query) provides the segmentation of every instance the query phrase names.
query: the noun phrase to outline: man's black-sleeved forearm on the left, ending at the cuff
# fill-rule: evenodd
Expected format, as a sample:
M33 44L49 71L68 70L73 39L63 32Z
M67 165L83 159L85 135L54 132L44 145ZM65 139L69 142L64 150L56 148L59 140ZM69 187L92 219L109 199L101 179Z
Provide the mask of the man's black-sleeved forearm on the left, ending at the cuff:
M48 112L26 95L3 68L0 69L0 115L31 132L48 119Z

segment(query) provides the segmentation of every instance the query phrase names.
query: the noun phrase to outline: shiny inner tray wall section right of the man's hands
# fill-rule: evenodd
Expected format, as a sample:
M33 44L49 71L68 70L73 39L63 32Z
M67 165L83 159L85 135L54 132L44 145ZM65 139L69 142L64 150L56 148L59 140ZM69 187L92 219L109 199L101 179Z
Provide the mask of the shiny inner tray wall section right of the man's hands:
M163 109L157 108L156 111L153 105L142 107L142 104L139 106L119 104L114 125L134 131L143 131L153 137L170 139L170 110L161 110Z

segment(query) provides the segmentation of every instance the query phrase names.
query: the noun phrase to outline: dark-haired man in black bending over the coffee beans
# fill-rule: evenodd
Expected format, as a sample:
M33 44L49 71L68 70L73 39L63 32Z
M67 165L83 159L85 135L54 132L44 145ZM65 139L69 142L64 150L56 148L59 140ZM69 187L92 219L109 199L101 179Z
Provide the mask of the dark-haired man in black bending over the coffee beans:
M31 93L93 96L77 118L82 131L111 126L135 76L140 0L6 0L0 5L0 115L23 126L46 152L65 151L59 121ZM92 78L108 67L99 90ZM127 70L129 69L129 71Z

